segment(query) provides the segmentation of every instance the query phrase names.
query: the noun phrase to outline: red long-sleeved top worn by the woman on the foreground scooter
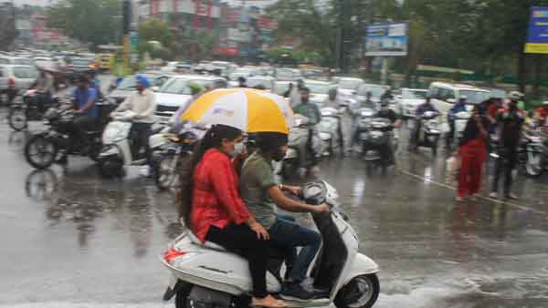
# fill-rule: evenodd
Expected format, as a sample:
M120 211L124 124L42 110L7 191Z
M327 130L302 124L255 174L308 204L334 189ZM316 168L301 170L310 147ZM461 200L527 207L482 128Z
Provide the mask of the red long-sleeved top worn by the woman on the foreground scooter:
M229 222L247 221L251 215L237 191L237 173L227 154L209 149L195 168L191 229L200 241L211 225L223 229Z

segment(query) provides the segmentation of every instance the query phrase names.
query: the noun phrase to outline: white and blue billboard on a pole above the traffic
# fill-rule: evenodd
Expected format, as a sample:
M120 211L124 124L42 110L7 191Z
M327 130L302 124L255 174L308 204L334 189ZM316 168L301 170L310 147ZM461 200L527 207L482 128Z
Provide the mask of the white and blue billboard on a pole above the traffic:
M407 24L367 26L365 56L407 56Z

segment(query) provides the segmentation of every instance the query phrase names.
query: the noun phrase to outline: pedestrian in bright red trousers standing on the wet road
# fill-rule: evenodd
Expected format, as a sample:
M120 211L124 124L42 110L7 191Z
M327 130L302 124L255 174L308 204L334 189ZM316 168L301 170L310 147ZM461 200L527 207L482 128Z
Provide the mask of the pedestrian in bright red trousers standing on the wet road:
M468 195L475 200L481 188L481 170L487 156L487 131L489 122L480 108L472 110L472 117L464 129L460 141L460 173L458 174L457 201L462 201Z

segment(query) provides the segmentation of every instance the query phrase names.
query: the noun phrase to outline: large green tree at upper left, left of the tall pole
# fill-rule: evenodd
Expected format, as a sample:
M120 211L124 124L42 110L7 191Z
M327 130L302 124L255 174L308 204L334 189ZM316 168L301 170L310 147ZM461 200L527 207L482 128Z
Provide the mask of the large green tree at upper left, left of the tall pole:
M50 6L46 16L47 26L92 46L118 42L120 38L119 0L62 0Z

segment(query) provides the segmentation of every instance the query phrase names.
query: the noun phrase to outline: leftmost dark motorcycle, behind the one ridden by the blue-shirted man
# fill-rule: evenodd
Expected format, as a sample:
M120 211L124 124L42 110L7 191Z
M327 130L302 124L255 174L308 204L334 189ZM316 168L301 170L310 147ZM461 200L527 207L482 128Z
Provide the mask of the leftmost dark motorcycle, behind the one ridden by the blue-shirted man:
M10 128L16 131L23 130L28 126L28 121L42 120L43 110L57 107L59 104L58 97L52 97L49 101L44 102L43 110L40 110L38 99L41 94L36 89L29 89L22 97L16 97L9 107L7 115Z

